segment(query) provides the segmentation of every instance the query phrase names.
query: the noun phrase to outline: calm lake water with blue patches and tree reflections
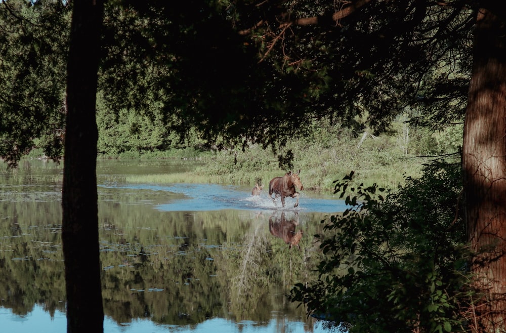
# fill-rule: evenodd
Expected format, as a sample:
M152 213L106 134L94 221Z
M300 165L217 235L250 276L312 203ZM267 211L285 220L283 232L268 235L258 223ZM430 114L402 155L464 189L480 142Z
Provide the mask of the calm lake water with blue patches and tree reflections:
M249 186L126 181L191 163L98 161L104 331L325 331L286 296L314 278L313 235L344 202L301 191L297 208L292 198L281 207ZM2 170L0 331L63 333L62 166L30 160Z

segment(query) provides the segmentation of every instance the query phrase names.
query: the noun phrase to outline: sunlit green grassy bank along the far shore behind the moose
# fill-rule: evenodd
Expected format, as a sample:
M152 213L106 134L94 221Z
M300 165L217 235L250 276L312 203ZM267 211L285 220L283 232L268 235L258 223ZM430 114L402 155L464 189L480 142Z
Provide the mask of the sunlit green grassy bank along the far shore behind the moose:
M367 130L352 130L339 124L319 122L312 135L292 138L285 146L264 148L249 144L226 149L210 148L193 138L167 150L101 151L99 160L185 161L192 168L171 173L144 172L130 175L131 183L215 183L268 185L287 171L301 170L306 191L332 194L334 181L355 173L357 183L378 184L395 189L406 177L418 178L424 163L458 151L461 131L434 133L398 121L389 132L373 136ZM459 136L460 135L460 136ZM459 140L457 140L460 138ZM39 158L34 149L25 158ZM449 157L448 157L449 156Z

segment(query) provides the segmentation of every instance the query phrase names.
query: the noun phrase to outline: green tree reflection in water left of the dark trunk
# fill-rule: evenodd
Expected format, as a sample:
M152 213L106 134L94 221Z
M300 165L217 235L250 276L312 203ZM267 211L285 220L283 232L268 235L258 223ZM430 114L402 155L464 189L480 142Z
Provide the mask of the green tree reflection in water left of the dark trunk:
M18 315L35 304L65 311L59 202L0 202L0 218L0 305Z

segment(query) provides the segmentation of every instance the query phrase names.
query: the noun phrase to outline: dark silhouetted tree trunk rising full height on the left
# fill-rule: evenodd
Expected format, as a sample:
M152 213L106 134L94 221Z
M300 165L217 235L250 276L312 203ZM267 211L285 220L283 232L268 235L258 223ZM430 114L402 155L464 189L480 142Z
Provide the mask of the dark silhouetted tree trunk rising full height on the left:
M103 332L95 119L101 0L75 0L67 65L62 241L67 332Z

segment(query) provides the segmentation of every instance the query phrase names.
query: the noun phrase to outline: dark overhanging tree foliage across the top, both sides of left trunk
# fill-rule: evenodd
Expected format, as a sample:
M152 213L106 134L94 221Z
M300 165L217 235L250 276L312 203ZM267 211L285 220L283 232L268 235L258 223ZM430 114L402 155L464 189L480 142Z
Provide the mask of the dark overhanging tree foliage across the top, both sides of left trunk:
M71 3L16 0L0 9L0 155L15 162L43 147L57 158ZM99 152L166 150L181 139L279 152L322 118L373 134L401 114L438 130L461 121L470 11L375 2L335 25L334 10L299 1L194 0L178 11L162 2L108 2Z

